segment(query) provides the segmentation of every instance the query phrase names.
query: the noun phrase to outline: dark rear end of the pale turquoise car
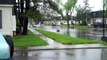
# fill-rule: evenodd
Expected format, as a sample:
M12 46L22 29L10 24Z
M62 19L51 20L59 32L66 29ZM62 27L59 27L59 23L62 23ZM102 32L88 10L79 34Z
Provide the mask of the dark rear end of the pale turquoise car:
M6 40L6 42L8 43L8 45L10 47L10 57L12 57L13 53L14 53L14 44L13 44L13 41L12 41L12 37L9 36L9 35L6 35L4 37L5 37L5 40Z

